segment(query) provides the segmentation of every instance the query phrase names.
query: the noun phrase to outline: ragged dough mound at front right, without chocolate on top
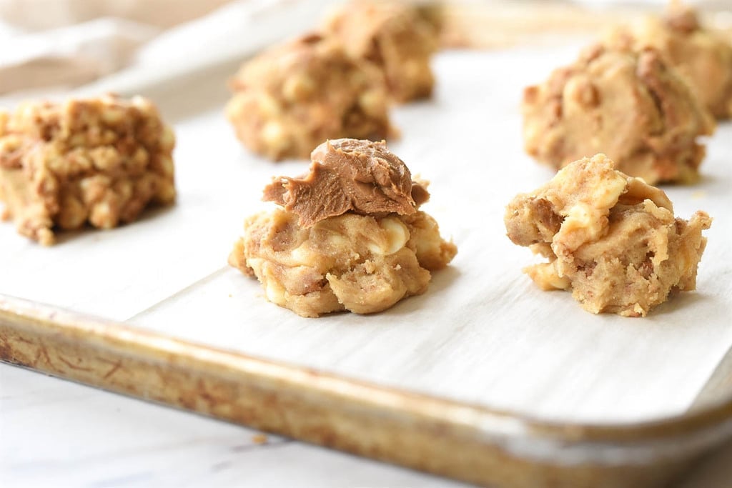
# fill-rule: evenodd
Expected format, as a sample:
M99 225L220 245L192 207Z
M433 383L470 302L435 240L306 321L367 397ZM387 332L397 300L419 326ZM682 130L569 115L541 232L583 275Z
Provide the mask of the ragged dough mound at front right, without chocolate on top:
M675 219L664 192L597 154L518 195L505 223L511 241L548 258L525 269L540 288L572 290L589 312L638 317L673 290L695 289L712 219Z

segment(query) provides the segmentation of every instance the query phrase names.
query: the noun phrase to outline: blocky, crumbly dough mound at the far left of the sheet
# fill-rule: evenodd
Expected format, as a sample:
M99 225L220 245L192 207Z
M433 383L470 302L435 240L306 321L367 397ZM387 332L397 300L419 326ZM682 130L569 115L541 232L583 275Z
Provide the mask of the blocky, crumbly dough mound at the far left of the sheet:
M0 201L23 236L113 228L172 203L175 138L142 97L106 96L0 111Z

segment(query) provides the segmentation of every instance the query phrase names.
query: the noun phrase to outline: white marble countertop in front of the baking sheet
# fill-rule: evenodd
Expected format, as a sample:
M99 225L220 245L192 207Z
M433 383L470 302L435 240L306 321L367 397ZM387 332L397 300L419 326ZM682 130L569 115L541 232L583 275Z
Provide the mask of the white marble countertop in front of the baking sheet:
M460 487L0 364L4 487ZM732 479L732 443L673 488Z

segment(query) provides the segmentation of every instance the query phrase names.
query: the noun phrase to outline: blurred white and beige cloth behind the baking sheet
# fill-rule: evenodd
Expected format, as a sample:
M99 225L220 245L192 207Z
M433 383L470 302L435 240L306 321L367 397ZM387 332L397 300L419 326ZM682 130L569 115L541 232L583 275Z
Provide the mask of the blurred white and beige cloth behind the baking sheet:
M167 69L176 63L201 64L222 53L231 56L236 50L248 52L302 30L305 20L313 21L288 12L323 3L0 0L0 94L69 89L125 67ZM214 7L220 8L211 13ZM282 20L261 23L262 15ZM250 38L261 41L252 44Z

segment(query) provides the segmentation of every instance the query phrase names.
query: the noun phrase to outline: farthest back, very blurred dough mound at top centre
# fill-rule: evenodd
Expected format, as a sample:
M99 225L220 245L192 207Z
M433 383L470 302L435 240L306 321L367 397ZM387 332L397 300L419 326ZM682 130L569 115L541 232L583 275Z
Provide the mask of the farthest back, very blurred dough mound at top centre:
M415 7L352 1L333 12L323 30L340 40L351 56L376 64L397 102L432 94L435 79L430 57L437 50L437 37Z

